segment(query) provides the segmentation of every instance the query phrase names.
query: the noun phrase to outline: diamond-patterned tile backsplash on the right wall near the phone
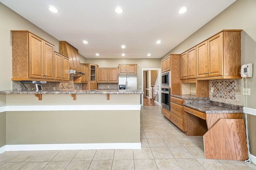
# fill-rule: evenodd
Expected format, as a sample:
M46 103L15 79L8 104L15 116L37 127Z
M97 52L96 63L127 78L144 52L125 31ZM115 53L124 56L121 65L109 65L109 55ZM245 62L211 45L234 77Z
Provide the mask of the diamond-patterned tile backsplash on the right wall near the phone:
M234 105L242 105L241 102L241 79L210 80L210 100Z

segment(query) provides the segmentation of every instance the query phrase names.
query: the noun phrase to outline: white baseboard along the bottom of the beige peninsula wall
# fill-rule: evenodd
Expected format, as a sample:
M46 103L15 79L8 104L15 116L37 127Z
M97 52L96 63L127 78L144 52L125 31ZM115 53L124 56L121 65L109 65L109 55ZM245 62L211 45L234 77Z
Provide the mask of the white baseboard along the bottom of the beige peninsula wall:
M88 144L10 144L0 148L0 153L17 150L91 150L140 149L141 143L88 143Z

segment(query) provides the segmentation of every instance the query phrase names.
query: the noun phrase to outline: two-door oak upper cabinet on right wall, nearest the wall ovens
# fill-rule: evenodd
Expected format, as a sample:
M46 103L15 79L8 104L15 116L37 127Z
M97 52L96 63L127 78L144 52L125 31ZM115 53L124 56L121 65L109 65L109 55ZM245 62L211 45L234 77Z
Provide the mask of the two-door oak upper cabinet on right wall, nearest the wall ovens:
M180 79L196 78L196 47L180 55Z

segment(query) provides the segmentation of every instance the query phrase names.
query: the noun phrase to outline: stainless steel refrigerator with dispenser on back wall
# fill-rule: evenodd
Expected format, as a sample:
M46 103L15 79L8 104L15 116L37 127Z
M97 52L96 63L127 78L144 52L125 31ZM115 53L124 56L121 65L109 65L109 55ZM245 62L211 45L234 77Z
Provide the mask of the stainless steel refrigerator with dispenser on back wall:
M118 87L119 89L123 89L123 87L125 87L125 89L128 89L128 90L136 90L137 74L119 74Z

